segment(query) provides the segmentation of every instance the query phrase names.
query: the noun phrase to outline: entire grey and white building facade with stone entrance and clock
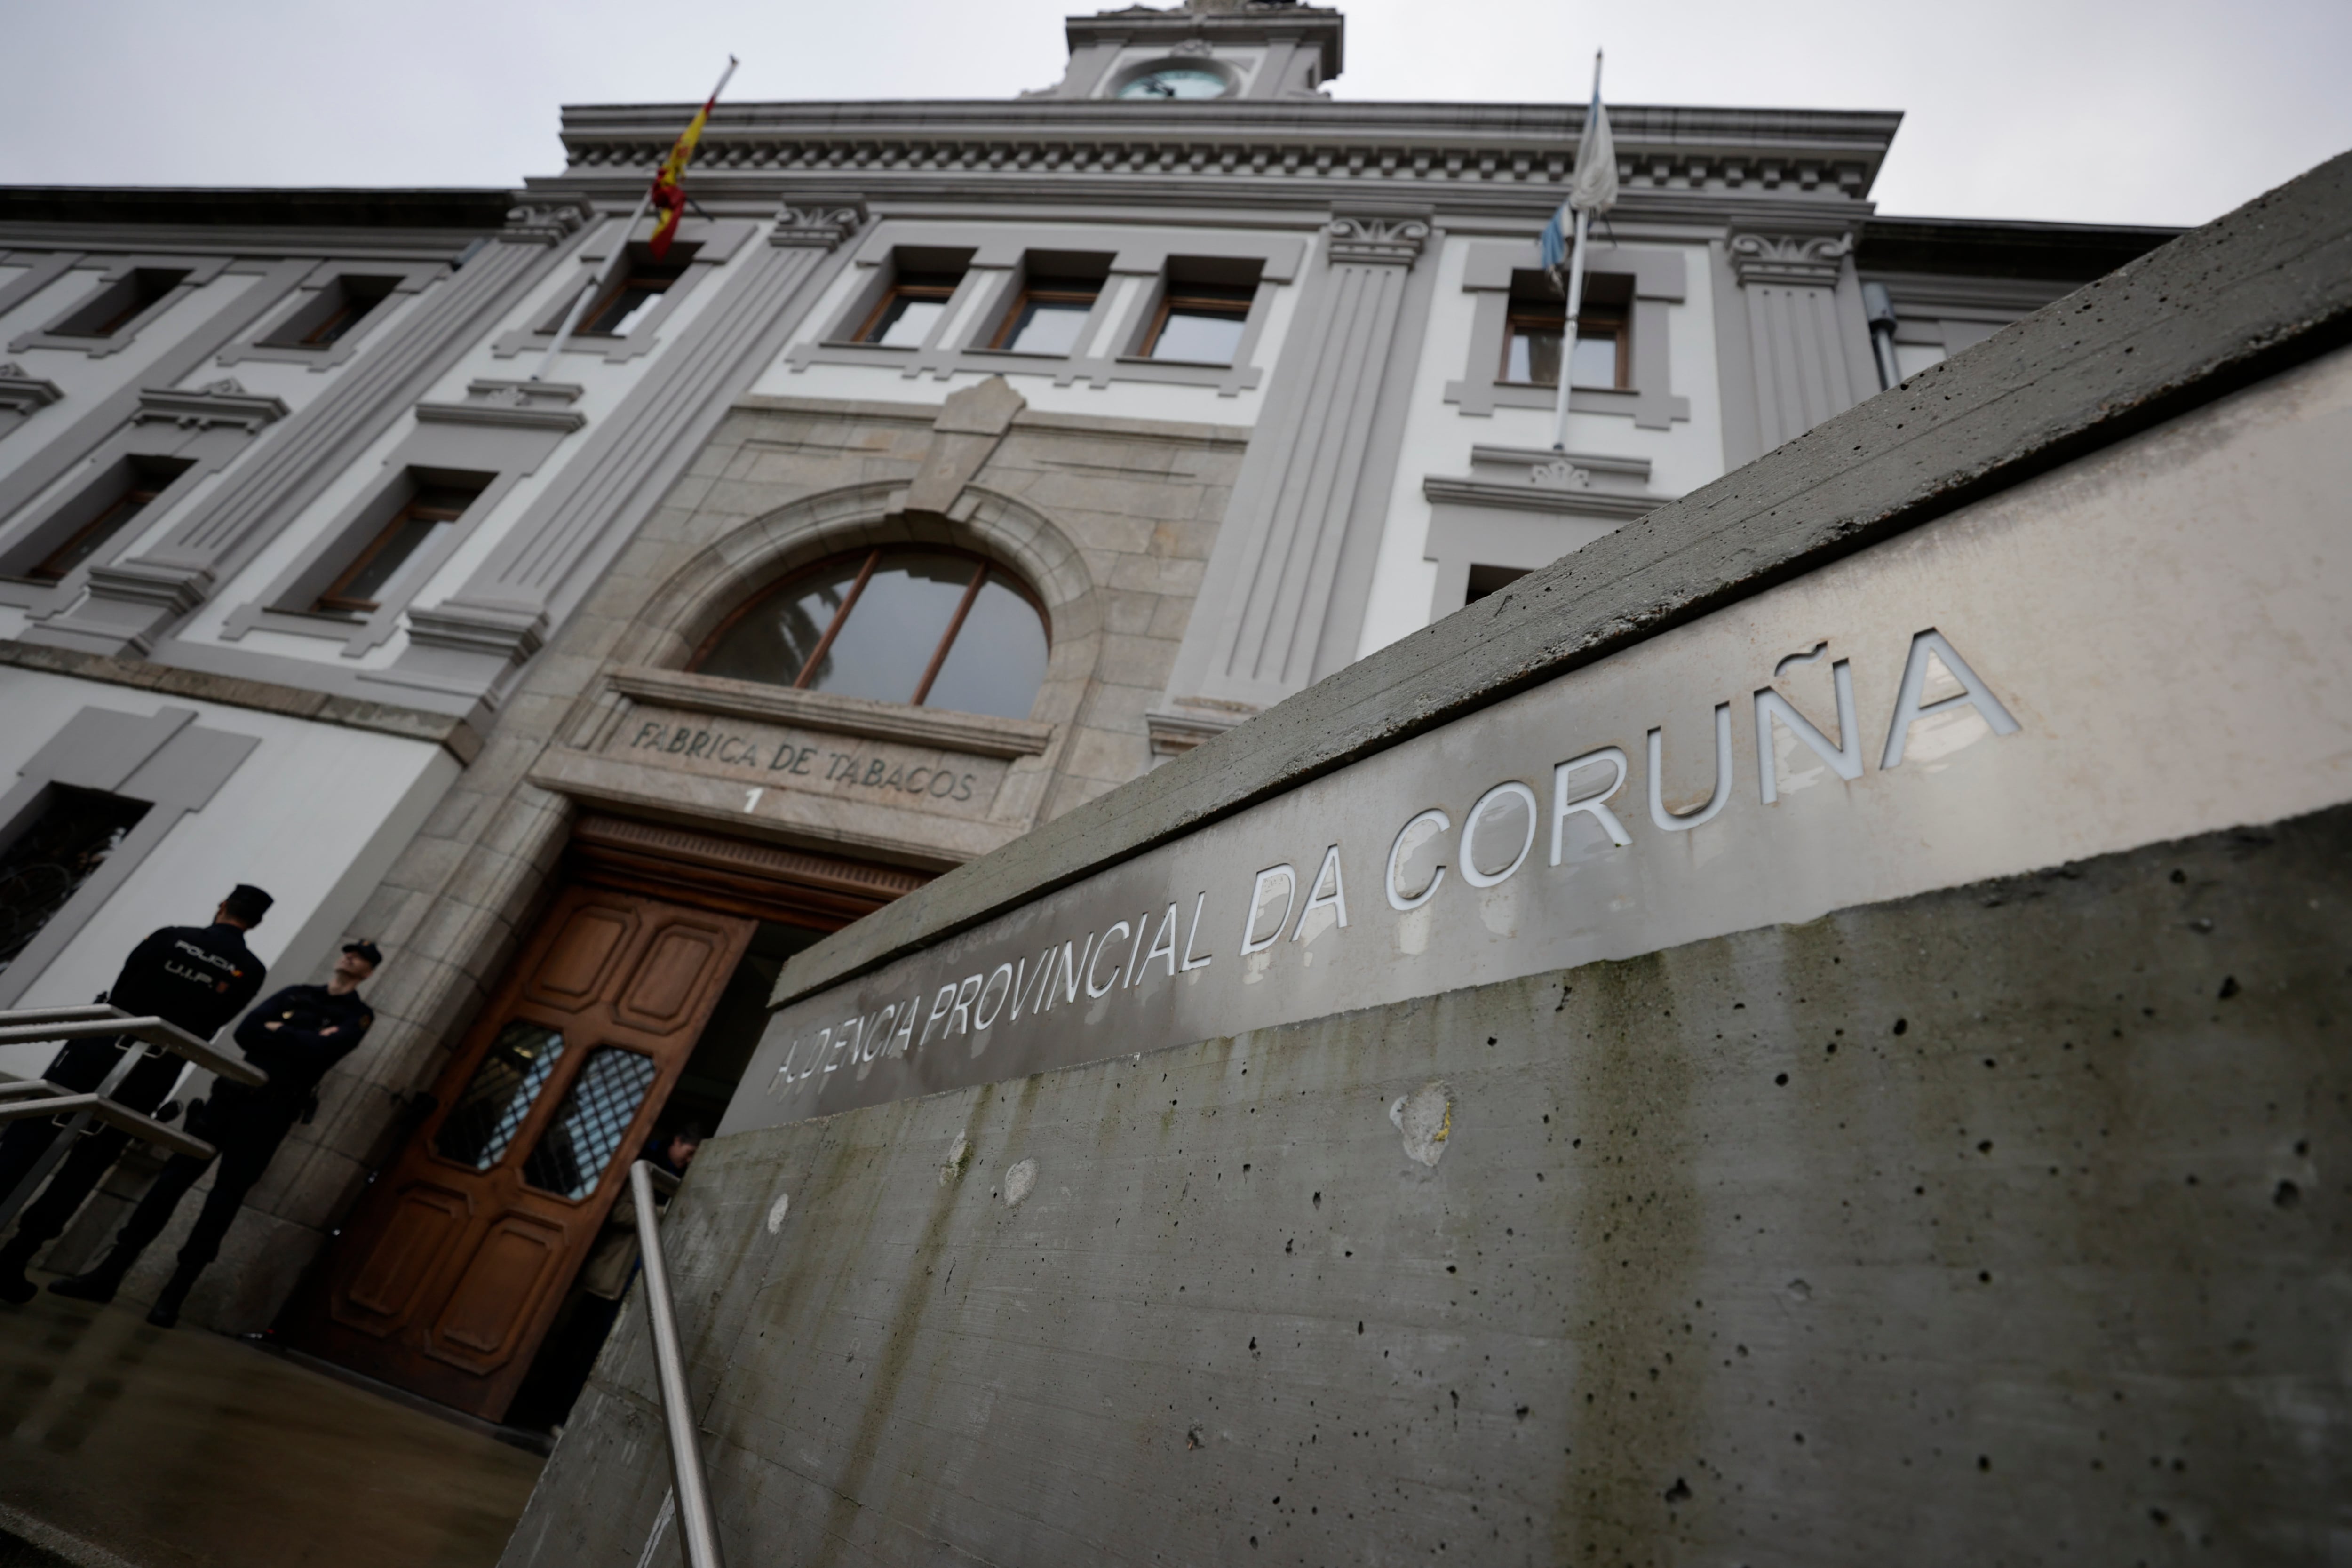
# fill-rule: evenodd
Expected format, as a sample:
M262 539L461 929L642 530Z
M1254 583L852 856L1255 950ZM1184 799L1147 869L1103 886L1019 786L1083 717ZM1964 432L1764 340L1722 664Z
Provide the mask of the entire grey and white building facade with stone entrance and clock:
M510 1415L786 957L2169 237L1882 219L1891 113L1628 106L1564 339L1583 110L1334 101L1315 7L1068 40L722 103L661 261L680 106L520 190L0 193L0 1004L235 882L280 980L386 950L193 1316Z

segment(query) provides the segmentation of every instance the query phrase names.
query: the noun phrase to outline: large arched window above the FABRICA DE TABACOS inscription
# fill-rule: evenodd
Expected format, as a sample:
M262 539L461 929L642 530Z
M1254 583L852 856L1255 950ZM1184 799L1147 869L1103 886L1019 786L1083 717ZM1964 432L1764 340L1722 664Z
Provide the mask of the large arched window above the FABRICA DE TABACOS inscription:
M703 644L703 675L1025 719L1047 618L1028 585L962 550L861 550L788 576Z

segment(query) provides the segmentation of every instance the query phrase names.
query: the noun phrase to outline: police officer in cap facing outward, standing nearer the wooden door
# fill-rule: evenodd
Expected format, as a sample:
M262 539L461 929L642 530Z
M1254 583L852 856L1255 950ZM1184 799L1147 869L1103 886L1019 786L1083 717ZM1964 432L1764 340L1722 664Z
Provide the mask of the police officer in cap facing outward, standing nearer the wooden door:
M261 1173L270 1168L270 1157L294 1124L315 1103L318 1081L327 1067L350 1056L376 1016L360 1001L360 980L376 973L383 952L374 943L348 943L343 957L334 961L334 973L325 985L289 985L238 1025L238 1046L245 1060L270 1074L261 1088L245 1084L214 1084L212 1098L191 1112L188 1131L219 1150L221 1171L212 1178L202 1213L179 1248L179 1267L172 1281L155 1298L148 1321L169 1328L179 1321L179 1309L195 1288L195 1276L221 1253L221 1237L238 1218L238 1206L252 1192ZM85 1302L111 1302L129 1274L132 1262L148 1241L172 1222L179 1199L205 1173L212 1157L174 1154L155 1175L155 1185L139 1199L139 1208L122 1222L113 1251L99 1267L73 1279L59 1279L49 1288Z

